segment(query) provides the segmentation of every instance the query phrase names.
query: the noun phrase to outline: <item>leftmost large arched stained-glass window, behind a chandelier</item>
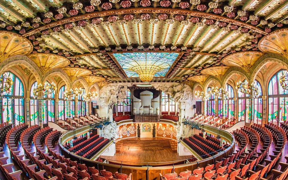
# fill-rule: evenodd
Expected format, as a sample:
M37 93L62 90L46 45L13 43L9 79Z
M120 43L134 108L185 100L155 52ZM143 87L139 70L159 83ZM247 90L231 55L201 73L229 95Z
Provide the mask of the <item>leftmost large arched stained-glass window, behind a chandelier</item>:
M21 80L10 71L6 71L1 77L10 77L12 86L10 90L1 94L1 120L10 124L24 123L24 86Z

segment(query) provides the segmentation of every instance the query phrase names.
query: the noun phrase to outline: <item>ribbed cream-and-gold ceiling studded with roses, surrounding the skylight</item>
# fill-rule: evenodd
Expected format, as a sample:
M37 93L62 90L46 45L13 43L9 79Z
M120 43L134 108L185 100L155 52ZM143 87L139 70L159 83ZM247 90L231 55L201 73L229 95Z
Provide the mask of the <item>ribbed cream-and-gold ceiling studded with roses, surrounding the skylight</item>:
M143 52L177 53L164 77L153 82L202 82L207 76L193 77L203 74L221 78L229 68L224 64L253 63L233 61L236 55L226 61L223 57L259 51L258 42L265 52L270 37L259 41L261 37L288 24L287 0L2 0L0 10L0 30L30 40L27 48L17 47L18 54L31 52L33 46L32 53L64 56L68 67L83 69L84 75L89 69L103 82L139 81L129 77L113 54ZM0 38L1 47L5 41ZM245 59L245 53L242 56Z

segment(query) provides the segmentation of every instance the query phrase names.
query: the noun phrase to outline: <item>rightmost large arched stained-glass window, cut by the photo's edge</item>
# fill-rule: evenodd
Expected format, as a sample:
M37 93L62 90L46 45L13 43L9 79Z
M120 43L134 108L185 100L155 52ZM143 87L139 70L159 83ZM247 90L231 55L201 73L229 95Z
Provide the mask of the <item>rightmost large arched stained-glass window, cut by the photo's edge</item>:
M279 83L285 70L278 71L268 84L268 123L278 123L287 120L288 91Z

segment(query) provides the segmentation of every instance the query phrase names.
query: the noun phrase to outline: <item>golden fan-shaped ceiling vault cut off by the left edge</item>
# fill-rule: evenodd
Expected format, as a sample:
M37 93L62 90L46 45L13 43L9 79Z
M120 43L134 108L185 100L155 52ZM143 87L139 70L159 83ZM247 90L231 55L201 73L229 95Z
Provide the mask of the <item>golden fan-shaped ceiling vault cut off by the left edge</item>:
M26 55L31 53L31 42L15 33L0 31L0 62L14 55Z

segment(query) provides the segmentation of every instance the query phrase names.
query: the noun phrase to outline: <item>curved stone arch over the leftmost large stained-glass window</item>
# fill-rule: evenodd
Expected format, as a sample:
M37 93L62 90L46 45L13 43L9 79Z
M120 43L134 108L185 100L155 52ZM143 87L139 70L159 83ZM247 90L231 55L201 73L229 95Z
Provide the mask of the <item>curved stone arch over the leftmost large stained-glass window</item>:
M0 74L2 74L4 71L6 71L8 68L16 66L16 65L23 65L24 67L28 68L30 72L34 75L36 78L36 81L41 81L41 74L40 69L38 66L33 62L31 59L29 59L27 56L23 55L15 55L11 56L7 59L5 59L0 64Z

